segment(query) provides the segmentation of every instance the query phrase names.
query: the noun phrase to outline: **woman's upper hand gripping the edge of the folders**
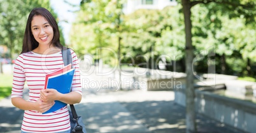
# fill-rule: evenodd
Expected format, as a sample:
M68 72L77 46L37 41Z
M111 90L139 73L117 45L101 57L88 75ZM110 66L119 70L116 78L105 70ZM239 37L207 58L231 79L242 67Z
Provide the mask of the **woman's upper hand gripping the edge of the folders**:
M59 92L55 89L41 89L40 99L45 102L55 101L58 99Z

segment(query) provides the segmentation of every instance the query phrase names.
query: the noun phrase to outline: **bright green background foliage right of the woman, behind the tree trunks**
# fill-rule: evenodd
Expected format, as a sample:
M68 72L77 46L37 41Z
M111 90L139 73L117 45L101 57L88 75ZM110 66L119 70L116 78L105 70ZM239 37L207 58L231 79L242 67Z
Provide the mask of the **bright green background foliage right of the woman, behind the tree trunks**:
M194 3L201 3L191 9L192 45L194 54L201 58L194 63L197 71L208 72L211 59L215 60L211 65L215 65L217 73L245 74L245 62L250 59L253 64L256 59L253 21L256 6L252 6L256 2L192 0ZM180 4L162 10L138 9L130 15L121 14L118 25L120 5L115 0L82 1L71 31L72 46L80 55L98 54L96 59L104 57L105 63L115 62L120 36L122 63L148 66L152 58L158 61L164 56L167 62L183 64L185 27Z

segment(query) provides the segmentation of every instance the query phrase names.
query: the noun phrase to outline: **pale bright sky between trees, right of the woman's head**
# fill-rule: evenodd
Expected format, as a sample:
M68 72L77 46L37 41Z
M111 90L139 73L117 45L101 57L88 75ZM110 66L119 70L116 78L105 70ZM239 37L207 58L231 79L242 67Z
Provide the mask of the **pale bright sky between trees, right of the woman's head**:
M81 0L66 0L71 4L79 5ZM64 0L50 0L50 4L59 17L59 26L62 27L66 44L69 44L69 31L71 23L75 20L75 13L72 11L79 9L65 3Z

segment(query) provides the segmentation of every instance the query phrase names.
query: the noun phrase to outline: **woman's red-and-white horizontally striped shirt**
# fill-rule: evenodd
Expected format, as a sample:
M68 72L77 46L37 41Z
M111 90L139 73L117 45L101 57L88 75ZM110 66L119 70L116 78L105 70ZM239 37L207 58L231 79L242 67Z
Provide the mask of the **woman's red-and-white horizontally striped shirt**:
M73 50L73 68L75 75L71 91L82 95L78 58ZM46 73L64 66L61 52L55 54L37 54L32 51L20 54L13 69L13 88L11 98L23 96L24 84L29 87L29 101L35 102L44 88ZM61 82L56 83L61 84ZM67 106L52 113L42 114L35 110L25 110L21 129L24 132L63 132L70 129Z

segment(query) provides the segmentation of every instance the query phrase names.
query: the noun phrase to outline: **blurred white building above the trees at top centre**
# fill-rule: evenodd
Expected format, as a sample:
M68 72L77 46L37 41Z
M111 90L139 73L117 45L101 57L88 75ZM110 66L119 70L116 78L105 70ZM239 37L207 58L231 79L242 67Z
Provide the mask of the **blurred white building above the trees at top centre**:
M176 0L128 0L124 4L124 13L130 14L137 9L163 9L166 6L176 5Z

